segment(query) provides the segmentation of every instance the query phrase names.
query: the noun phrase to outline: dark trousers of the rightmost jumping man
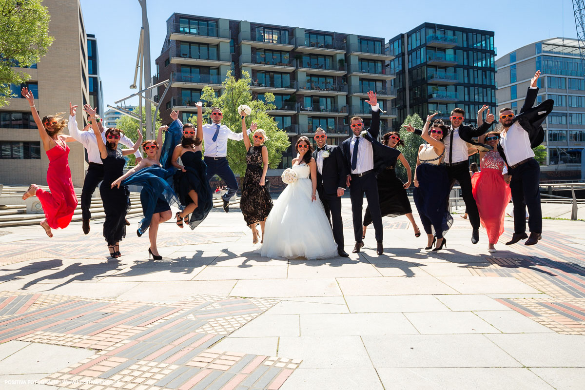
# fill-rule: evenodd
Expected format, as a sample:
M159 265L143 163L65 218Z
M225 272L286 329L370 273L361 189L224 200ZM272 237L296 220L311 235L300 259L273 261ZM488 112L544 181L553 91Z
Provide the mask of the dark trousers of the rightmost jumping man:
M512 175L510 189L514 203L514 233L526 232L526 208L528 208L528 229L542 233L541 167L536 160L530 160L508 171Z

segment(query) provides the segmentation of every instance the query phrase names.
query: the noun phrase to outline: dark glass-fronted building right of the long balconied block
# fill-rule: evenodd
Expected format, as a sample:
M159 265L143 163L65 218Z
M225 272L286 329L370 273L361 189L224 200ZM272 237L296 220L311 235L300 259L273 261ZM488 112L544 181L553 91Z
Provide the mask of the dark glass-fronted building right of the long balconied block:
M449 122L460 107L465 123L475 124L481 106L495 109L494 32L422 23L390 39L386 49L395 56L386 64L396 75L394 130L412 113L425 120L438 112L435 119Z

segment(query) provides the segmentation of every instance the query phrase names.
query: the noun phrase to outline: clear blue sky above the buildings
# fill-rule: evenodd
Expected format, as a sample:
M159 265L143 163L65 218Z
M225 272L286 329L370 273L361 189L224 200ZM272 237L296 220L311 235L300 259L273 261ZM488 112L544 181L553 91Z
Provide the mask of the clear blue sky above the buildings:
M571 0L518 1L208 1L148 0L152 73L173 12L384 37L423 22L495 32L500 56L550 37L577 36ZM142 19L136 0L81 0L88 33L98 40L104 106L132 94ZM564 9L564 19L563 19ZM564 20L564 27L563 27Z

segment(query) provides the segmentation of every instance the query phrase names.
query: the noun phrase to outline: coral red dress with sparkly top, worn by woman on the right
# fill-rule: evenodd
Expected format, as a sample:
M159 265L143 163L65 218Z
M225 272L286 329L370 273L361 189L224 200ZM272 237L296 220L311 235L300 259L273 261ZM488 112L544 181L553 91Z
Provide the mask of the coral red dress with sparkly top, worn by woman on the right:
M488 151L480 162L481 172L472 177L481 225L486 228L490 243L497 244L504 233L504 215L512 194L504 181L504 160L496 151Z

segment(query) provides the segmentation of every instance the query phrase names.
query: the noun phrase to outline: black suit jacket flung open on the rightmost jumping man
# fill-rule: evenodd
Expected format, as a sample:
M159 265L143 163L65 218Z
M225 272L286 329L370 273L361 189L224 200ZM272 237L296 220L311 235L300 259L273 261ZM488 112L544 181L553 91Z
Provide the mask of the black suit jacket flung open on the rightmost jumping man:
M542 122L544 122L546 116L549 115L555 106L555 101L548 99L540 103L538 106L532 107L536 101L536 95L538 95L538 88L528 87L526 99L524 99L524 105L520 109L520 113L512 119L512 123L518 122L518 125L528 133L530 147L533 149L544 141L545 130L542 129ZM500 156L504 159L505 163L508 164L504 148L500 143L498 143L498 152L500 152Z

